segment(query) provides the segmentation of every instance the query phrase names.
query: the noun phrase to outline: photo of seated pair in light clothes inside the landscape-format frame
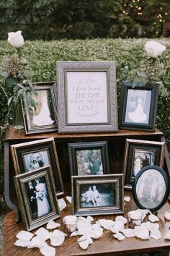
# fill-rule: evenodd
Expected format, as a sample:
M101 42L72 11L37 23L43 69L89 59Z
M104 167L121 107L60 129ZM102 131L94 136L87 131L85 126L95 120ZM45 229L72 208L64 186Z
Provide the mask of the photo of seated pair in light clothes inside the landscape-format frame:
M115 205L115 184L81 185L81 208L112 207Z

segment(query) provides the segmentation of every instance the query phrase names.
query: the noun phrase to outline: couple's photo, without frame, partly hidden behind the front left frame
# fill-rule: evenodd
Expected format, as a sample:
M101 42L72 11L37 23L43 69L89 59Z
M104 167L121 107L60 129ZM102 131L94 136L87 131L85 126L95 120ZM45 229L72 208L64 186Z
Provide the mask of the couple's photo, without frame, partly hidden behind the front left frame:
M32 171L43 166L50 165L48 150L33 151L23 154L26 171Z

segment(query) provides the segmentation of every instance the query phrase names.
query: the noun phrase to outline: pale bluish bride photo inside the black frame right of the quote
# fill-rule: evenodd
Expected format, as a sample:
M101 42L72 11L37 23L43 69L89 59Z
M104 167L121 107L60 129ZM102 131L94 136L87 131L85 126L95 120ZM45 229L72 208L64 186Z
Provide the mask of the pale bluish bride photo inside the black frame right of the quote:
M128 90L125 121L148 124L151 106L151 90Z

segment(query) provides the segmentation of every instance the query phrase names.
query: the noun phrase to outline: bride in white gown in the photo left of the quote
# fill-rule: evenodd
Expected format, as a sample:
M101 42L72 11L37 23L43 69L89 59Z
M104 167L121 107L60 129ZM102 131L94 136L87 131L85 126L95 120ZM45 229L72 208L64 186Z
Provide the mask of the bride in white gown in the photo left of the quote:
M54 121L50 118L50 111L48 107L48 97L46 92L40 94L40 111L38 114L35 114L35 108L33 108L33 118L32 123L40 125L50 125Z

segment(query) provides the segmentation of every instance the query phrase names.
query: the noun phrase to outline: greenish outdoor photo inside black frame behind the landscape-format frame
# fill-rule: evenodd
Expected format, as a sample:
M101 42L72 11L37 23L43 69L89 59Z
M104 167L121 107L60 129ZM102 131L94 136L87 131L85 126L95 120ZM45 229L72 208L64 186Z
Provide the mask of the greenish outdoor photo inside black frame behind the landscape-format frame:
M77 150L76 161L79 175L102 175L102 154L100 149Z

